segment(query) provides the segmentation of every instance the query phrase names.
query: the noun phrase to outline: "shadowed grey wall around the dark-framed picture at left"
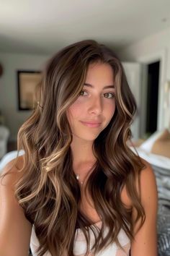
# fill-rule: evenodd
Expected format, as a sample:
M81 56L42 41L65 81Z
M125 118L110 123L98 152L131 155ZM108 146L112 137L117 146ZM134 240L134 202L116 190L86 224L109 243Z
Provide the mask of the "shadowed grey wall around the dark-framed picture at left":
M19 111L17 99L17 70L41 70L50 56L0 53L4 74L0 77L0 109L10 129L10 141L17 140L17 132L31 111Z

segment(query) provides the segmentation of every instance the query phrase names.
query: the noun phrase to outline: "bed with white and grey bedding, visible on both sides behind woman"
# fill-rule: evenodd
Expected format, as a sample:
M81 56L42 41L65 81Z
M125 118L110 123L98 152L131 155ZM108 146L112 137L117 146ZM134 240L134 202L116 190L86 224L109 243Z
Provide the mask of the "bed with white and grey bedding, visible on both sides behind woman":
M132 148L136 150L141 158L146 159L156 175L158 186L158 256L170 256L170 158L155 155L143 149L143 147ZM19 155L24 153L23 150ZM2 168L17 156L17 151L7 153L0 161L0 172Z

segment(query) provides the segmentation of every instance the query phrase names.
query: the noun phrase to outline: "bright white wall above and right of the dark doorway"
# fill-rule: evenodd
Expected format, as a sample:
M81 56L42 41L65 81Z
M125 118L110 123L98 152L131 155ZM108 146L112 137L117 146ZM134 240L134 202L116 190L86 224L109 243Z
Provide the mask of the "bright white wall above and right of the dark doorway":
M158 100L158 128L169 127L169 109L164 108L166 101L165 83L170 80L170 27L151 35L130 46L120 49L118 55L122 61L147 62L147 59L161 59L161 78Z

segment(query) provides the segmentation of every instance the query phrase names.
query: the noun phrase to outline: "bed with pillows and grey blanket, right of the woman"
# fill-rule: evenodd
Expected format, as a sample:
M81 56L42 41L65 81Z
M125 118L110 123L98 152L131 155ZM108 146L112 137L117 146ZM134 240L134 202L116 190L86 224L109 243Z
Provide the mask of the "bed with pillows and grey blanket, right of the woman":
M165 140L165 135L167 140ZM170 146L167 148L167 142L170 142L169 135L167 129L162 132L155 132L140 147L132 148L141 158L151 163L156 176L158 187L158 256L170 256L170 157L167 157L167 155L170 155ZM160 138L163 138L163 140L160 140ZM164 148L165 141L166 147ZM158 155L159 142L161 142L161 155ZM156 154L152 153L155 148ZM164 149L166 150L164 151Z

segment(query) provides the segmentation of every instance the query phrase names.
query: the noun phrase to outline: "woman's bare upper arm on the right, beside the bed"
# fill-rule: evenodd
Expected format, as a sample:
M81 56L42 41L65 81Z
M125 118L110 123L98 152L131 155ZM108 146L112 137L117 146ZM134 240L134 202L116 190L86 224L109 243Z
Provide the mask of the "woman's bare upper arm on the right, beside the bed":
M145 161L146 168L140 174L140 195L143 208L146 213L146 221L141 229L138 223L135 225L135 240L131 245L131 256L157 256L157 188L156 179L151 166ZM136 213L133 210L133 218Z

